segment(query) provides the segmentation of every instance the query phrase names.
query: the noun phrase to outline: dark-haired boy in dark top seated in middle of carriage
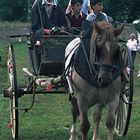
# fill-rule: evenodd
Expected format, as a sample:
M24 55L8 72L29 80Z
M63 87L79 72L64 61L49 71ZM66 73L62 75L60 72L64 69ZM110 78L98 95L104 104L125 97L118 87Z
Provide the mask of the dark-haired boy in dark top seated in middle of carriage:
M82 22L86 19L86 14L84 14L81 11L82 4L83 4L83 0L71 0L72 10L66 14L68 17L70 27L74 27L72 28L73 34L77 34L77 35L81 31Z

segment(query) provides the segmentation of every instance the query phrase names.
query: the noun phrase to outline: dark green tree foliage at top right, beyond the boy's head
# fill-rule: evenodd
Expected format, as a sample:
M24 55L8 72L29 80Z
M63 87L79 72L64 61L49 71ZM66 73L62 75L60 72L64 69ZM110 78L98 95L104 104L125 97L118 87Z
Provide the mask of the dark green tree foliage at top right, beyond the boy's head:
M139 0L109 0L105 11L120 22L133 22L140 17Z

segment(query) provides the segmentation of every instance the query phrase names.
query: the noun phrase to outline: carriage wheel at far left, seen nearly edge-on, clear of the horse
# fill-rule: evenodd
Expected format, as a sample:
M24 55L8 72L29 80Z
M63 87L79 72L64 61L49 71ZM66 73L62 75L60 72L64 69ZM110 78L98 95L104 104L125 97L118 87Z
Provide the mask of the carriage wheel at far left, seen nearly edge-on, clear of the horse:
M17 97L17 76L16 63L13 46L9 46L8 52L8 74L9 74L9 91L10 98L10 123L9 127L12 129L12 136L15 140L18 139L18 97Z

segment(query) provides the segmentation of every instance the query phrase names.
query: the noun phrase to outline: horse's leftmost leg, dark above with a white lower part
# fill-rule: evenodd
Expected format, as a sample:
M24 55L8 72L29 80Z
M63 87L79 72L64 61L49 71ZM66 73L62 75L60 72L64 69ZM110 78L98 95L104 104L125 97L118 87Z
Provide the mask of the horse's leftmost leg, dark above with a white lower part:
M72 104L71 112L72 112L72 117L73 117L73 124L71 127L71 131L70 131L71 136L70 136L69 140L78 140L77 132L76 132L76 120L77 120L77 117L79 116L79 109L78 109L76 98L71 97L70 101Z

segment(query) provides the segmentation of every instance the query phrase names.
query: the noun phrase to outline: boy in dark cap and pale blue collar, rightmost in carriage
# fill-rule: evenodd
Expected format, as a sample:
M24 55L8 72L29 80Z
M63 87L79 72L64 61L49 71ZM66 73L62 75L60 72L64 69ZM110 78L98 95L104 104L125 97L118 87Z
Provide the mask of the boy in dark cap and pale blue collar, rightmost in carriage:
M113 23L112 25L115 26L115 21L108 16L106 13L102 12L103 11L103 2L102 0L90 0L90 6L92 9L92 12L90 14L88 14L88 16L86 17L86 20L83 21L82 23L82 33L81 35L82 37L82 41L85 45L85 49L87 49L89 44L89 38L91 36L92 33L92 26L93 26L93 22L100 22L100 21L107 21L109 23ZM110 20L111 19L111 20ZM88 50L87 50L88 52Z

